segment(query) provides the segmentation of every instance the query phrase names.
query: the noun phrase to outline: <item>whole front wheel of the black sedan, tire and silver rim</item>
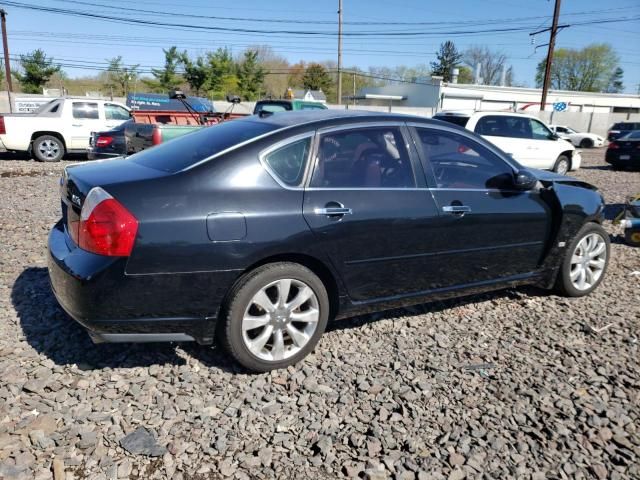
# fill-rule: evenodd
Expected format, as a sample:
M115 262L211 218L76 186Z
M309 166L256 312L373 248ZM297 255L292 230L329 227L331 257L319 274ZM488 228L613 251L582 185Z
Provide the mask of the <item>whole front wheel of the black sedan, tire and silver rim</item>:
M584 225L567 247L556 290L567 297L583 297L595 290L607 271L609 234L597 223Z

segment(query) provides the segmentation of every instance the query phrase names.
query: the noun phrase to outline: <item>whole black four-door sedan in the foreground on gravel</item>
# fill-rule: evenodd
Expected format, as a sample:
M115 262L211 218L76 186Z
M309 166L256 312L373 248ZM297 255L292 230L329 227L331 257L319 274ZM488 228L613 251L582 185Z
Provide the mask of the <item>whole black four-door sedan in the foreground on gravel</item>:
M586 295L609 258L594 187L419 117L253 116L69 166L60 189L51 283L94 341L217 338L256 371L335 318L523 284Z

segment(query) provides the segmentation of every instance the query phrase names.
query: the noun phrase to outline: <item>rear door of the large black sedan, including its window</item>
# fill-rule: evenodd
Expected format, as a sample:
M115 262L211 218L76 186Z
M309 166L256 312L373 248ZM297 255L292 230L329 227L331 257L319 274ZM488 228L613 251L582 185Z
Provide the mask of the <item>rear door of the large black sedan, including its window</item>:
M304 217L354 301L432 288L438 211L412 148L401 124L318 132Z

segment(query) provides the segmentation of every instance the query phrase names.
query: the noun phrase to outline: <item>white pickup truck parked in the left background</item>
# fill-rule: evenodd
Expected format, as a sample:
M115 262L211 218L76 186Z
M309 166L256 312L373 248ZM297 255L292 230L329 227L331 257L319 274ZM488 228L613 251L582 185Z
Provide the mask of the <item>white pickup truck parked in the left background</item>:
M91 132L115 128L130 118L129 109L117 102L57 98L36 113L0 115L0 150L57 162L65 153L86 154Z

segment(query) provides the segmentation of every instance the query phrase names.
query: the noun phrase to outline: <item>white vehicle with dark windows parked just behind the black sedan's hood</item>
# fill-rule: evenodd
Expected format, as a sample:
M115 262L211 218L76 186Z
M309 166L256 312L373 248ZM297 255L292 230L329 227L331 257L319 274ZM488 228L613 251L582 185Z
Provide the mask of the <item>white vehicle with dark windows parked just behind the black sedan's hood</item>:
M580 152L531 115L510 112L450 112L433 118L471 130L526 167L566 174L580 168Z

